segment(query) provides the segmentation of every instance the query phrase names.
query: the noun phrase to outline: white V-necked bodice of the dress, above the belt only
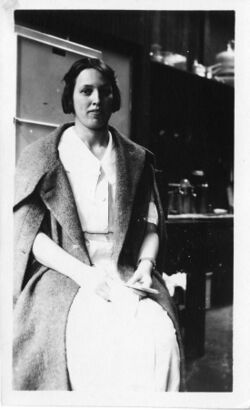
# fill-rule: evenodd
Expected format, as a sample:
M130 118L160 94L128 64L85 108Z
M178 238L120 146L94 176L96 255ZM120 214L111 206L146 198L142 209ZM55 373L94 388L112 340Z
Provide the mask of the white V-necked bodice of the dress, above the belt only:
M99 160L68 128L59 143L59 156L74 194L82 230L89 233L112 231L109 203L115 198L116 169L112 135L103 158Z

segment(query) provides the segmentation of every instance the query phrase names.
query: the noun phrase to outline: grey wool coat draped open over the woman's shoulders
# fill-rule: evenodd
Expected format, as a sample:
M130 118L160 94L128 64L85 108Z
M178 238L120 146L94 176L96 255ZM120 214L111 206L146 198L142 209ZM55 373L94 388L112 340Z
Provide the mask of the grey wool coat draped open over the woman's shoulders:
M91 265L73 193L58 154L64 124L30 144L16 172L13 388L15 390L71 390L67 370L67 317L79 286L59 272L40 265L32 255L39 231L45 232L72 256ZM183 348L176 310L161 278L165 254L165 223L155 182L153 155L110 127L117 158L114 260L123 280L134 272L146 228L153 190L159 214L160 250L153 298L173 321L181 354Z

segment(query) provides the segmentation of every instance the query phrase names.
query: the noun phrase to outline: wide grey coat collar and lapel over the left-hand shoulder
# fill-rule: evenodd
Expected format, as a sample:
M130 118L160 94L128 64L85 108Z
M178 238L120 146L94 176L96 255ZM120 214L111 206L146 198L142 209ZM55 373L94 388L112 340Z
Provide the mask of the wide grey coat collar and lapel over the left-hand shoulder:
M64 124L27 147L22 154L18 163L15 205L18 206L38 187L45 206L62 226L73 245L77 246L79 257L90 263L73 193L58 155L61 135L72 125Z

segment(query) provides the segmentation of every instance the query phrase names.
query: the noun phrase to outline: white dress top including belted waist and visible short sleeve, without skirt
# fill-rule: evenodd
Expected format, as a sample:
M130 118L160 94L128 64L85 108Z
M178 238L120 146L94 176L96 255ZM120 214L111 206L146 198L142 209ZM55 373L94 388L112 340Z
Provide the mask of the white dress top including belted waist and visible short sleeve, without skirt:
M112 134L109 132L108 145L101 160L78 137L74 127L64 131L58 150L73 191L90 258L95 265L110 266L116 194L116 151ZM158 223L153 199L147 221Z

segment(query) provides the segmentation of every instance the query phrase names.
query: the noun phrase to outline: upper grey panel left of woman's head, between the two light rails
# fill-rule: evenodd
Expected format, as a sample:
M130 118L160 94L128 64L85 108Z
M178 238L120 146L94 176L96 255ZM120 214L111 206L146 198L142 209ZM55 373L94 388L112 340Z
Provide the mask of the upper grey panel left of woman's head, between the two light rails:
M55 47L27 38L18 41L17 116L35 121L61 123L68 121L61 106L63 76L78 54L55 53Z

